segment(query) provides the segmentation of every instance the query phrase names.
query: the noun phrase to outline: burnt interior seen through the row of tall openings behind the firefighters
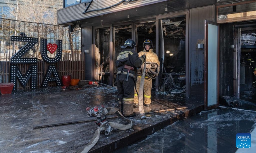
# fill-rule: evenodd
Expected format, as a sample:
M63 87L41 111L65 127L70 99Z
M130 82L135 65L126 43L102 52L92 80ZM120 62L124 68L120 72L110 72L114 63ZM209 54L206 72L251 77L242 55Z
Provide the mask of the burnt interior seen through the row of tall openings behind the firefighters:
M139 53L144 50L143 41L150 39L156 45L156 21L142 21L135 25L135 51ZM185 89L185 30L186 17L180 16L176 18L163 18L162 30L164 41L164 51L159 51L163 54L159 57L160 63L164 61L164 70L162 74L163 86L161 91L171 89ZM128 38L132 38L132 24L114 26L114 85L116 78L115 61L117 55L121 52L120 46ZM96 68L98 68L98 80L101 83L109 83L109 38L110 28L95 29L95 45L96 45ZM160 44L160 43L159 43ZM155 48L153 50L156 52ZM162 61L163 59L163 61ZM154 88L155 80L153 81ZM183 88L182 88L183 87Z

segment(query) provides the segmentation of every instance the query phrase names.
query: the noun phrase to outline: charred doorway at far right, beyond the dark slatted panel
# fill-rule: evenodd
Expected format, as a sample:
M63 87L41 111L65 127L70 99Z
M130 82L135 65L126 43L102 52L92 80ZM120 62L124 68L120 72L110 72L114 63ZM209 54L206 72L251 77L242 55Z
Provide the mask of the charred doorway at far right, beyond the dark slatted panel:
M239 73L239 98L251 102L256 101L256 20L240 22L235 25L238 31L238 73ZM239 55L239 53L238 53Z

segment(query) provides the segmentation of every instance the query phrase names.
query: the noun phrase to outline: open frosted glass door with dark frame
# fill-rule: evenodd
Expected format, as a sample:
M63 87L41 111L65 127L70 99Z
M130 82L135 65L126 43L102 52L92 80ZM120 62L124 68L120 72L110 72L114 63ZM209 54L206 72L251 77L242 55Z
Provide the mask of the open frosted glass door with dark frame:
M204 109L219 105L219 24L204 21Z

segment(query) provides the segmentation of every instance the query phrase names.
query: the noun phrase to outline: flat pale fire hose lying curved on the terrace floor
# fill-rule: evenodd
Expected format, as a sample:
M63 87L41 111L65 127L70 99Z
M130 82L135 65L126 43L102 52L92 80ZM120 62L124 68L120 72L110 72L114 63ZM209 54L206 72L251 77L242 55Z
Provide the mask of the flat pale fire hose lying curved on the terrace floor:
M122 113L118 111L118 109L116 107L107 107L107 108L105 107L104 111L103 111L103 114L104 115L111 115L111 114L114 114L116 112L118 112L122 117L124 117L122 115ZM112 128L116 128L118 130L128 130L128 129L132 128L132 121L125 118L125 117L124 117L124 119L127 120L130 124L124 125L124 124L119 124L119 123L114 123L114 122L108 122L109 126L111 126ZM100 138L100 131L106 130L106 127L104 127L104 125L105 124L100 124L100 127L98 127L98 129L96 130L96 132L94 133L90 142L87 143L82 149L80 149L78 151L78 153L87 153L92 149L92 147L95 146L95 144L98 142L98 140Z

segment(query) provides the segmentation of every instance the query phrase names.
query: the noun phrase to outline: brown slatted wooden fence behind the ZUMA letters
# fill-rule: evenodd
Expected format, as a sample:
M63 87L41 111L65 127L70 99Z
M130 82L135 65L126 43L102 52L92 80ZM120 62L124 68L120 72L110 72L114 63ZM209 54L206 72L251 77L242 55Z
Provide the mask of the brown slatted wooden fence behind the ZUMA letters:
M9 67L10 62L9 59L16 54L16 52L12 53L9 52L8 55L6 55L4 61L0 61L0 83L6 83L9 82ZM30 57L32 58L32 57ZM70 53L70 51L63 51L62 58L57 63L47 63L43 60L39 60L36 63L37 64L37 88L41 86L41 83L44 79L44 76L47 72L47 69L49 65L55 65L56 69L58 71L58 74L60 76L62 75L71 75L71 79L80 79L84 80L84 53L80 50L74 50L73 53ZM30 65L36 65L36 64L11 64L11 65L17 65L20 69L20 72L25 75ZM19 82L19 81L18 81ZM56 86L55 82L49 82L48 87L54 87ZM30 89L30 80L26 84L25 88L23 88L20 83L17 84L17 90L29 90Z

